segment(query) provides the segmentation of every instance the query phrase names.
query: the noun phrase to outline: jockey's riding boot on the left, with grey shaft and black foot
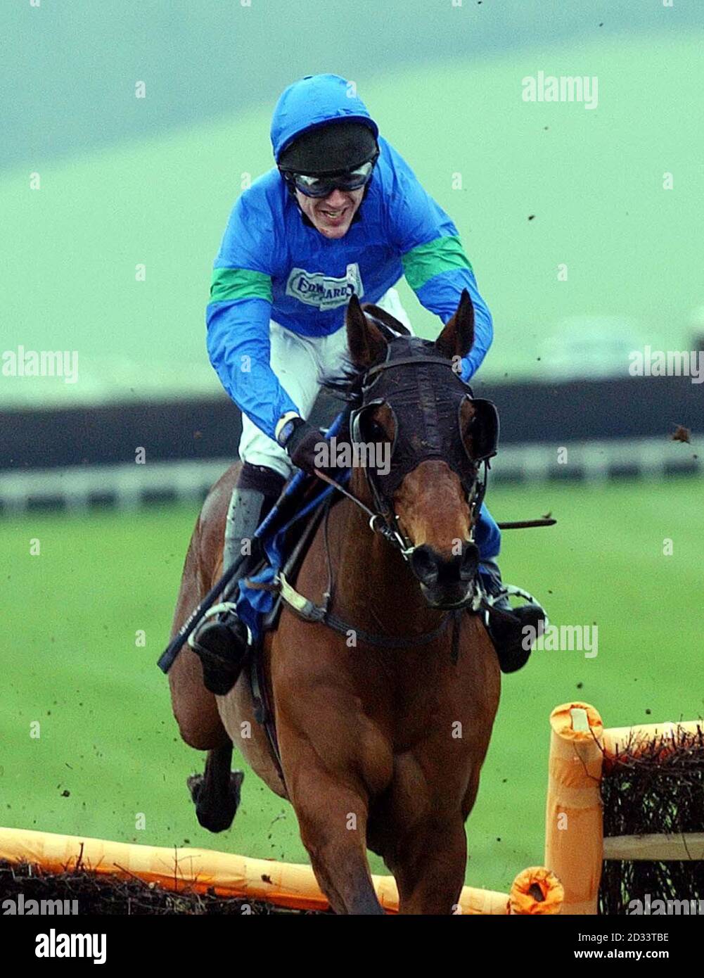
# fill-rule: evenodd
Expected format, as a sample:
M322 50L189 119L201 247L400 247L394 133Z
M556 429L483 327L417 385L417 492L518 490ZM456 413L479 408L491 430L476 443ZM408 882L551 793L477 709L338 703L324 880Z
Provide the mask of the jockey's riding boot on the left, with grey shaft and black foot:
M223 573L236 561L240 566L220 603L206 611L189 639L200 659L205 689L218 696L233 689L242 671L251 636L237 613L239 584L261 556L254 532L283 485L284 478L278 472L245 464L233 491L225 523ZM246 556L242 559L243 553Z

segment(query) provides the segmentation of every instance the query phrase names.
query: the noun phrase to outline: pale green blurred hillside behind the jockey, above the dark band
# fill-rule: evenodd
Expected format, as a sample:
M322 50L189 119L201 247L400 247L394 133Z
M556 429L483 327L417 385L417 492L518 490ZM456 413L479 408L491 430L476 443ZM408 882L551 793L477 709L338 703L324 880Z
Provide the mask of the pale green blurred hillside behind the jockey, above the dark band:
M677 98L665 81L674 66ZM521 79L539 70L596 75L598 108L524 103ZM538 357L566 316L624 316L643 342L688 342L704 301L699 76L698 36L657 34L398 68L365 84L382 131L460 227L496 323L484 377L546 375ZM40 190L26 167L6 171L4 346L75 349L79 380L0 377L0 404L219 389L204 348L210 267L242 174L271 163L271 109L47 160ZM432 333L437 321L403 290Z

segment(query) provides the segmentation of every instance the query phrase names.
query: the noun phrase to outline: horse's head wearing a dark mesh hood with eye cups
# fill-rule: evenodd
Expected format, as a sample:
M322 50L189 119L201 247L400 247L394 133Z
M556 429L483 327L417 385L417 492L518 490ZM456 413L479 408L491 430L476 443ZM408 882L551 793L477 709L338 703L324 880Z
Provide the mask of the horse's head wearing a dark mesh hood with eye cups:
M428 603L460 606L472 597L479 563L479 472L496 454L499 429L494 405L474 399L460 378L474 341L469 294L434 342L353 295L347 337L360 380L350 431L373 462L364 471L374 510ZM353 486L364 491L359 472Z

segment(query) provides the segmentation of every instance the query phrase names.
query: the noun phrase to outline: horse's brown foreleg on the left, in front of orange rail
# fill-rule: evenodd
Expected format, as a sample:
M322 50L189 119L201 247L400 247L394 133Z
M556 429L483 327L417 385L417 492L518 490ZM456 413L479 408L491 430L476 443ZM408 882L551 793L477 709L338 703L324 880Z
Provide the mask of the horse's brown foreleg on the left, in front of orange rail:
M286 770L288 794L318 883L335 913L383 913L367 861L368 800L314 751Z

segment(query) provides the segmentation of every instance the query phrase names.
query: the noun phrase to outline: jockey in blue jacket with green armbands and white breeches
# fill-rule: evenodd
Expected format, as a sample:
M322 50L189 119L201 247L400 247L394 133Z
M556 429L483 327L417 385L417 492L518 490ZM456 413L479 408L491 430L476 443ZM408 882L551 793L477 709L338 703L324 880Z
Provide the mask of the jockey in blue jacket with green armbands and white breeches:
M318 74L289 85L274 111L271 139L277 166L235 204L207 307L210 361L242 410L242 472L227 515L223 570L247 553L293 468L314 467L320 433L306 419L321 376L344 366L352 291L410 329L393 288L402 275L443 323L468 289L475 340L462 362L465 381L493 338L457 228L378 135L350 82ZM484 506L475 540L482 587L510 610L496 561L501 533ZM190 640L205 685L221 694L237 680L248 641L234 604L225 607L212 609ZM513 613L497 616L499 625L487 623L505 672L530 654L522 629L537 629L544 619L535 603Z

